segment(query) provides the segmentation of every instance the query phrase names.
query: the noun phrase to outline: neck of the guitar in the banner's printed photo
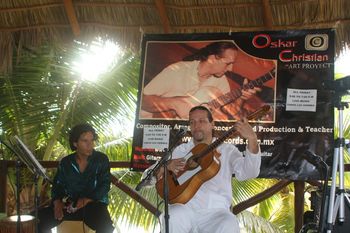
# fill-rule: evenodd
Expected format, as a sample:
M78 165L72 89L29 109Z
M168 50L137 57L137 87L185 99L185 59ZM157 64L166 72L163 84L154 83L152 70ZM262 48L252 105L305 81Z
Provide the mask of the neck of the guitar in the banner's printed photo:
M272 69L271 71L267 72L263 76L253 81L250 81L247 84L244 84L242 88L237 88L230 92L227 92L226 94L221 95L216 99L209 101L207 104L211 109L217 109L226 104L232 103L242 95L242 90L253 89L254 87L261 87L265 82L273 79L274 76L275 76L275 69Z

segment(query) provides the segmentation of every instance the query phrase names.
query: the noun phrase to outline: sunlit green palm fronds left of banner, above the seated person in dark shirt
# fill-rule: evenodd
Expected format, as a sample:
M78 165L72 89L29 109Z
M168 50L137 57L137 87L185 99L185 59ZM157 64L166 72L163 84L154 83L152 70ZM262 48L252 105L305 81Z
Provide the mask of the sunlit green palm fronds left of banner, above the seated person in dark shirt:
M2 134L18 135L38 158L45 153L51 158L53 149L41 149L47 150L51 139L53 148L62 145L66 153L68 131L77 123L91 123L106 138L113 122L123 125L135 115L139 59L125 52L92 83L79 79L70 62L84 49L72 43L14 53L12 73L0 75Z

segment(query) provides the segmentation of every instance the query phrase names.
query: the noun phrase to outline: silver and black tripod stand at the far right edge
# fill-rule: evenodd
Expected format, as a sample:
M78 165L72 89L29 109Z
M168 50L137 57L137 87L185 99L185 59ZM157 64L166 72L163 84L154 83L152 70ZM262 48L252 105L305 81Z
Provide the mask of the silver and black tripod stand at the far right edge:
M342 83L340 83L342 82ZM328 214L327 214L327 224L326 229L327 233L331 233L333 230L333 226L335 224L335 220L338 213L338 221L340 223L343 223L345 221L345 200L347 201L347 204L350 208L350 198L349 194L345 192L344 189L344 146L346 140L343 137L343 110L344 108L348 107L348 103L344 103L341 101L342 94L344 92L346 93L347 90L341 89L349 87L350 83L350 76L346 78L342 78L339 80L334 81L335 89L338 89L335 91L335 94L338 94L336 96L336 102L335 107L338 110L338 135L339 137L335 140L335 147L334 147L334 155L333 155L333 165L332 165L332 183L331 183L331 190L330 190L330 198L329 198L329 205L328 205ZM350 152L350 151L349 151ZM339 188L336 193L337 188L337 172L339 169Z

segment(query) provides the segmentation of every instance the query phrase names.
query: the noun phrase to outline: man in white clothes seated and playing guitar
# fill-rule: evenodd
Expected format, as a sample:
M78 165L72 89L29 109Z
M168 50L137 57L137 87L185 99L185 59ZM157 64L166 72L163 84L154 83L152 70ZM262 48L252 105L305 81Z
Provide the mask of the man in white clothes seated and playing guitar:
M184 170L190 166L189 161L185 159L186 156L195 154L196 147L209 145L214 141L214 121L207 108L204 106L192 108L189 112L189 124L192 140L175 148L172 160L167 165L170 177L177 176L179 180L179 174L183 174ZM236 122L234 130L240 137L247 139L245 156L232 144L223 143L217 146L213 152L214 161L218 164L217 173L204 182L189 200L182 200L179 203L170 200L172 203L169 206L171 233L239 232L238 221L229 210L232 201L232 174L238 180L257 177L260 172L261 153L257 135L246 118ZM157 185L162 182L163 174L163 170L158 171ZM161 221L163 220L161 217ZM164 232L164 222L162 227Z

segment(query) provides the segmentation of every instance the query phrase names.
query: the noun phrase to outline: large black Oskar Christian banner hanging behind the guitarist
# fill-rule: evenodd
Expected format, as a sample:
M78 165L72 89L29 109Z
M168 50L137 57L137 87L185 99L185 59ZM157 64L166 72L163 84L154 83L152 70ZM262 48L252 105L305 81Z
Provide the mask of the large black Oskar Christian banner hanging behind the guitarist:
M235 52L213 53L218 48ZM213 63L210 70L204 62ZM217 138L268 106L250 120L263 154L259 177L322 179L313 156L333 154L334 107L325 86L333 78L333 29L145 35L131 169L162 158L180 129L188 129L180 143L191 139L193 106L212 111ZM237 134L224 142L245 149Z

